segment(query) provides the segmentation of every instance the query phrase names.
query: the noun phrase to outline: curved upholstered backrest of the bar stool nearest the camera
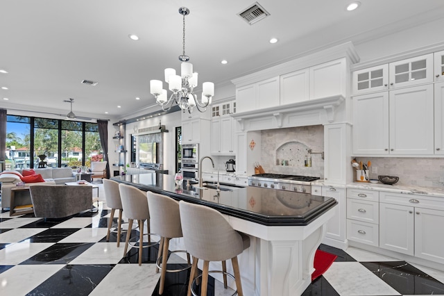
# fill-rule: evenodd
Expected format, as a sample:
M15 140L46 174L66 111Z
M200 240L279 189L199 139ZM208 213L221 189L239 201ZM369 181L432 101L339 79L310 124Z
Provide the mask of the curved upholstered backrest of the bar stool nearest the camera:
M179 202L187 252L205 261L225 261L244 251L242 237L213 208Z

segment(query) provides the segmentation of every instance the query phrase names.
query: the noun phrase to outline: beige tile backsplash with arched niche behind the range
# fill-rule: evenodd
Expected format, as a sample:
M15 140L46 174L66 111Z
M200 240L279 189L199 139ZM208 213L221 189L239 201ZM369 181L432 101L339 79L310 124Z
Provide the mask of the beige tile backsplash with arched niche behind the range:
M311 154L311 167L305 167L304 163L308 149L312 152L324 151L322 125L262 131L261 147L260 164L265 172L324 177L321 154ZM288 161L288 165L282 165L282 161Z

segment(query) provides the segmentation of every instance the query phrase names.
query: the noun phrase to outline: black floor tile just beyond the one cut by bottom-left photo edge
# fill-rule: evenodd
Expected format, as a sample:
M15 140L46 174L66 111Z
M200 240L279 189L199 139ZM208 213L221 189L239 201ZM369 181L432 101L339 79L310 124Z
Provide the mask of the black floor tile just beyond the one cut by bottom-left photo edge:
M94 243L66 243L55 244L44 249L39 254L32 256L20 265L31 264L67 264L74 260L78 255L82 254Z

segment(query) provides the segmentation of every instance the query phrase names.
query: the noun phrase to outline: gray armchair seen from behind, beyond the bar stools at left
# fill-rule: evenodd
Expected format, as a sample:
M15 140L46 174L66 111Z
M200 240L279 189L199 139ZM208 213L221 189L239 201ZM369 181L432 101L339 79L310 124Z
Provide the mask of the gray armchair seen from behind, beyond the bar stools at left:
M91 186L30 186L35 217L61 218L92 208Z

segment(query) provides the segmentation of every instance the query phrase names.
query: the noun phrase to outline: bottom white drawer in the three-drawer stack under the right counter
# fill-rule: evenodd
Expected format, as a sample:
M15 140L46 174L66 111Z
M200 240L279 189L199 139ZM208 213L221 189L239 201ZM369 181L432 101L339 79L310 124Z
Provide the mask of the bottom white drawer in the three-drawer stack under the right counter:
M347 219L347 238L355 242L378 247L378 225Z

